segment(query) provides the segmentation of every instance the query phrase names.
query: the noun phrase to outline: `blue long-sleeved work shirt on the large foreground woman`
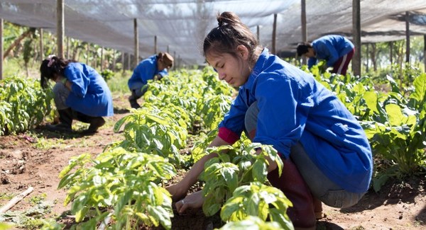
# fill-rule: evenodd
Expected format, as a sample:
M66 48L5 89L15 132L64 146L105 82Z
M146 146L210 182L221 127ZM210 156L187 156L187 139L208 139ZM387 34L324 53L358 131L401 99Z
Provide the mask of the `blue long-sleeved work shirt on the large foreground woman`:
M366 134L334 93L313 76L263 50L219 130L239 137L246 111L256 100L253 142L271 144L285 158L300 142L334 183L350 192L368 190L373 163Z

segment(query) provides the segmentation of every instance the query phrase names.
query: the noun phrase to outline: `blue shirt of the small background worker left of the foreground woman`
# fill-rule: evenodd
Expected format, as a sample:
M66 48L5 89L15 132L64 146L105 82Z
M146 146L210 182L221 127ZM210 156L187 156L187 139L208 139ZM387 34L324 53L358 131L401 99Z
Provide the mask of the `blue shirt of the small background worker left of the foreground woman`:
M160 74L162 77L168 75L167 69L158 71L157 69L157 55L148 57L139 62L138 66L133 70L131 78L127 82L131 90L135 87L140 87L141 83L143 85L148 84L148 80L154 78L155 75Z

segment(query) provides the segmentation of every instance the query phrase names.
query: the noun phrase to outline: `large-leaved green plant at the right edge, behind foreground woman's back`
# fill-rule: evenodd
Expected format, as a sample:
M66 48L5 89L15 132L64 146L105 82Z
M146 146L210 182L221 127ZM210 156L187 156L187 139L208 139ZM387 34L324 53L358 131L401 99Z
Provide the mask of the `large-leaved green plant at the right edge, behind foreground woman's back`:
M384 105L386 120L363 122L373 154L397 168L392 171L397 176L418 174L426 166L426 74L418 76L414 86L405 100L393 84L393 93Z

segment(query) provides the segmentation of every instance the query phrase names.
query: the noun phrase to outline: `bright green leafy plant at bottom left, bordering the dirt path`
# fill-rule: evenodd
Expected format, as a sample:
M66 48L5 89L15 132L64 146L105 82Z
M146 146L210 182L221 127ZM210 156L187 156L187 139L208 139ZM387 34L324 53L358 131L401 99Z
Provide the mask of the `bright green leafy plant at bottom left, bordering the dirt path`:
M115 148L94 160L89 154L72 159L60 173L58 188L69 188L65 205L72 202L71 212L82 229L94 229L109 215L114 229L134 228L139 222L170 229L172 200L159 184L174 175L173 165L161 156Z

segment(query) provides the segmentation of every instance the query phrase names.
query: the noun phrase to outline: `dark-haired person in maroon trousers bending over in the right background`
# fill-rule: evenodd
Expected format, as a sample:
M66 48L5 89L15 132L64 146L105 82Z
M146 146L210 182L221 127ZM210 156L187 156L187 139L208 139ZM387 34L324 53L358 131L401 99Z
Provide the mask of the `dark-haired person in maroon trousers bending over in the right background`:
M346 75L349 62L354 56L354 44L340 35L327 35L311 43L297 45L297 55L308 57L307 67L310 69L317 64L317 59L327 62L327 67L333 67L332 73Z

